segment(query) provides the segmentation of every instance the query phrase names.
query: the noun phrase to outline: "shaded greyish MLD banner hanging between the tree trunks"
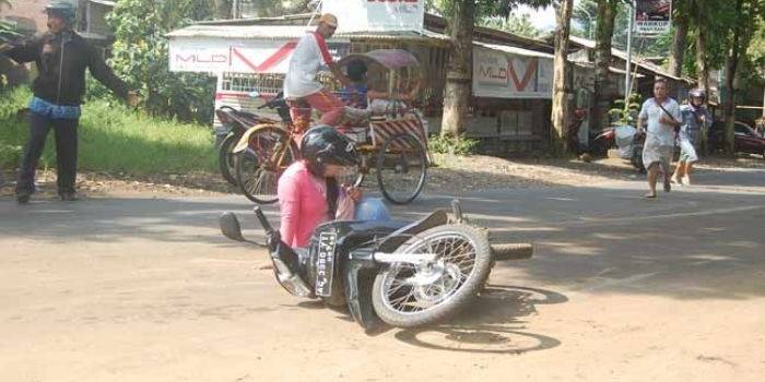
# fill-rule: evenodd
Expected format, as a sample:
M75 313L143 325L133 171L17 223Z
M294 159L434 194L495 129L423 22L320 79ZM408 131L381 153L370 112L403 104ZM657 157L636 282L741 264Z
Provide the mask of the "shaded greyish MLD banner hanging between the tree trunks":
M552 98L550 55L473 48L473 94L494 98Z

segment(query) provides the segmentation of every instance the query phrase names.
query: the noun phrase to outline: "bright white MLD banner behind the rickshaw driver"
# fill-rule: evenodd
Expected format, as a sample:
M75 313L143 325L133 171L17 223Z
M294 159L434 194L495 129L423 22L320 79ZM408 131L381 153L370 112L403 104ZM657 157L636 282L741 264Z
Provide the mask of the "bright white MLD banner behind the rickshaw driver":
M169 67L173 72L276 73L290 67L297 40L226 38L170 38ZM348 55L350 43L328 41L336 60Z

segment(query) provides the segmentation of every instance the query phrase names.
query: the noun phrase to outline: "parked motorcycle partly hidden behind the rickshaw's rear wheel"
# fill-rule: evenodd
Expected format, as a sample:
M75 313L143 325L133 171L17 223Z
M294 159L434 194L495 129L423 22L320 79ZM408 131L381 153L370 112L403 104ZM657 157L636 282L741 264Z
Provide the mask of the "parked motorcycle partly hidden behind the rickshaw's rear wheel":
M252 92L248 96L257 98L260 95L257 92ZM281 92L272 100L258 107L259 110L264 108L275 109L283 122L289 123L291 121L290 107L282 98ZM217 163L221 175L226 181L237 186L235 177L237 155L233 154L232 151L247 129L260 123L275 123L275 121L268 117L237 110L231 106L219 108L215 110L215 115L217 120L221 121L221 127L215 129L215 147L217 147Z

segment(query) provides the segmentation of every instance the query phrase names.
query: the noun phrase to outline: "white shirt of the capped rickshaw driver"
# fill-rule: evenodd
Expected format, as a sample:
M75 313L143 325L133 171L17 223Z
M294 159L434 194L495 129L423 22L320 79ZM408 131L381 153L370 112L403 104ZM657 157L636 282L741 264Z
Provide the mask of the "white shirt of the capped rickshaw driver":
M319 92L323 85L316 79L322 64L332 62L327 44L317 33L306 33L297 41L284 77L284 97L299 98Z

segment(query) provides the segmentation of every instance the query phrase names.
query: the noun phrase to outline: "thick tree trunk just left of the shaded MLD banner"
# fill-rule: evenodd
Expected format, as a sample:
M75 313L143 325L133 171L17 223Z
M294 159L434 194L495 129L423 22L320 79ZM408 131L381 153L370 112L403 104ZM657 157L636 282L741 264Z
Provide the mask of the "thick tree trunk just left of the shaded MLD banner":
M464 132L470 106L473 68L473 23L475 1L459 0L449 23L451 55L446 71L444 88L444 118L442 135L456 136Z

